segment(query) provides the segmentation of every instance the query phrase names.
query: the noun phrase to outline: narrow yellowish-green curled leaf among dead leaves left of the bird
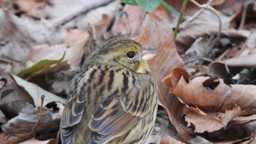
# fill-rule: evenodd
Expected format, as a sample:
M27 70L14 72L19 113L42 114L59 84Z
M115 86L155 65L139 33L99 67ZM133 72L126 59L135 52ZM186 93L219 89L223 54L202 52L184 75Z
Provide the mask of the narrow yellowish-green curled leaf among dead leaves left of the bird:
M27 69L20 70L20 72L16 73L19 77L29 77L30 75L34 74L35 72L39 72L42 69L45 69L46 67L50 67L53 64L59 64L64 59L65 53L59 60L42 60L37 62L37 64L34 64L32 67L29 67Z

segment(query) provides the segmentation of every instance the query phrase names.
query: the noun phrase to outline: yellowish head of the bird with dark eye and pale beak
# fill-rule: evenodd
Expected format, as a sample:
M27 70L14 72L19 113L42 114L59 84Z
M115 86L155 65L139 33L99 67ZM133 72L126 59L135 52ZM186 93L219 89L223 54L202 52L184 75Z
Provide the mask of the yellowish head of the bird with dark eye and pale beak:
M97 50L102 60L124 65L134 72L149 72L147 60L157 56L149 53L157 48L143 47L140 43L131 39L110 39L102 48Z

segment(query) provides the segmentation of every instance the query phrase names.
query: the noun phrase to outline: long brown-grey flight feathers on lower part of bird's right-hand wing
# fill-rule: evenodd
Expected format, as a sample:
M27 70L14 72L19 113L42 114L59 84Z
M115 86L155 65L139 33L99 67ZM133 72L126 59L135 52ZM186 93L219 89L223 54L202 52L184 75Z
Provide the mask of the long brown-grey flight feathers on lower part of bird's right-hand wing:
M110 96L101 102L91 116L89 127L94 133L90 143L107 143L127 133L138 123L134 115L125 113L118 98Z

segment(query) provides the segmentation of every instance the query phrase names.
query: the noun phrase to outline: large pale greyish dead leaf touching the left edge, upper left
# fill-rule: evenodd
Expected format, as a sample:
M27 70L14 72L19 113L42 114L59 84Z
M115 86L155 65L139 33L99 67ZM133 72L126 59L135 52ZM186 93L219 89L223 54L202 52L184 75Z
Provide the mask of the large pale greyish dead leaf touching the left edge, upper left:
M18 18L8 11L0 10L0 56L15 61L26 61L34 45L61 43L66 31L53 28L49 23L31 18Z

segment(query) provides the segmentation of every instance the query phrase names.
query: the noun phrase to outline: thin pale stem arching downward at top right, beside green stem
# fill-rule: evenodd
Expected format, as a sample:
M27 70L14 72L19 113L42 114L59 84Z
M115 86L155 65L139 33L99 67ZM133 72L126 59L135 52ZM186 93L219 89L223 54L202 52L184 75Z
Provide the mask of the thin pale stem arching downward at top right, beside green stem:
M219 13L217 12L217 10L215 10L214 7L211 7L211 6L207 5L207 4L198 4L197 1L195 1L195 0L189 0L189 1L191 1L197 7L204 8L206 10L210 10L211 12L214 12L214 14L217 16L217 18L219 20L219 31L217 33L217 42L219 42L220 32L222 30L222 20L220 19Z

